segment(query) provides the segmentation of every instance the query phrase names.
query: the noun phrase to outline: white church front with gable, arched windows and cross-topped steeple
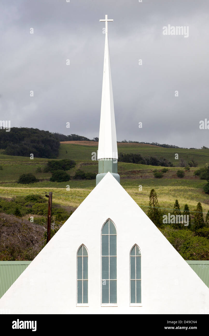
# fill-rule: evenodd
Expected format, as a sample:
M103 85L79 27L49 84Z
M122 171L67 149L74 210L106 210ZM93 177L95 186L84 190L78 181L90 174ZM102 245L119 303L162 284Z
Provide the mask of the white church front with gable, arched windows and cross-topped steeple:
M0 299L11 314L201 314L209 289L120 185L107 19L96 187Z

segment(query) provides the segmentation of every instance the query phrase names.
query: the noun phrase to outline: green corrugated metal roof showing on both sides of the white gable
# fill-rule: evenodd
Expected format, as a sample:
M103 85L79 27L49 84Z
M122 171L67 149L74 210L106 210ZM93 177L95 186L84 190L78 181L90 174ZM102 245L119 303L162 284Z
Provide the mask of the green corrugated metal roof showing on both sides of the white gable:
M209 261L186 260L186 262L209 287ZM31 261L0 261L0 298L30 263Z

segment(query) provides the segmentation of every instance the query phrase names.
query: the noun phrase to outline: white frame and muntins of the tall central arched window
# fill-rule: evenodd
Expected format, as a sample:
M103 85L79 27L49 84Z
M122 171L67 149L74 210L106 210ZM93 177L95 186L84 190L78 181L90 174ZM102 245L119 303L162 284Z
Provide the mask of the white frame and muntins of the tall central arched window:
M118 306L118 304L117 303L102 303L102 280L107 280L107 281L109 281L109 301L110 301L110 281L111 280L116 280L116 288L117 288L117 279L102 279L102 257L104 257L103 255L102 255L102 236L109 236L109 255L108 256L105 256L105 257L109 257L109 277L110 277L110 236L115 236L115 235L112 235L112 234L108 234L108 235L103 235L102 234L102 230L103 230L103 227L104 227L104 225L106 224L106 222L107 221L109 221L109 220L111 220L111 222L113 222L113 220L111 219L111 218L108 218L105 222L104 222L104 224L102 225L102 229L101 229L101 307L117 307ZM115 230L116 230L116 255L114 256L112 256L111 255L111 257L116 257L117 258L117 228L116 228L116 225L115 225L115 223L113 222L113 224L114 224L114 226L115 226ZM116 275L118 274L118 272L117 272L117 259L116 259ZM116 298L117 298L117 296L116 296ZM117 300L118 301L118 300Z

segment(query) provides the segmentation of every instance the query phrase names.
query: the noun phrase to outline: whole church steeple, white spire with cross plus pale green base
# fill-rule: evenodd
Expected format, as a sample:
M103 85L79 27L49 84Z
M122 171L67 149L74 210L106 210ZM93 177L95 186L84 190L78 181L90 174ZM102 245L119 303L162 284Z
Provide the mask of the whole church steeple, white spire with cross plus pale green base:
M107 19L107 15L105 15L105 19L100 21L105 22L105 52L99 129L99 146L97 156L97 159L99 160L99 173L96 177L96 184L101 181L101 179L108 171L116 178L118 182L120 182L120 176L117 174L117 140L115 130L115 114L107 30L107 22L113 20Z

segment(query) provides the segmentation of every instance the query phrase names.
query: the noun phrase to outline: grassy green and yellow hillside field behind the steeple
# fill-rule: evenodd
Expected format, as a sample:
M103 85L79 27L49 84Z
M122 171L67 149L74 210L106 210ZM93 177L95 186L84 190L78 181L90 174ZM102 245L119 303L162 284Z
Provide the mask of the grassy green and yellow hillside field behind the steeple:
M66 153L67 152L67 153ZM71 176L75 170L82 169L85 172L98 172L98 162L92 161L92 152L97 152L97 146L82 144L61 143L58 159L72 159L76 161L76 167L68 172ZM194 171L199 167L204 167L209 162L209 150L187 150L187 149L167 149L152 145L119 143L118 152L140 153L142 156L165 157L171 161L175 167L168 168L168 172L163 178L157 179L153 176L153 170L161 170L162 167L138 165L132 163L118 162L118 173L121 178L121 185L128 194L142 206L146 212L149 205L149 193L154 188L158 195L159 204L163 208L172 209L177 198L180 207L183 208L188 203L190 210L193 210L198 202L202 203L203 211L209 210L209 196L203 192L205 180L200 180L194 176ZM198 161L198 168L191 168L185 172L184 178L178 178L176 171L184 168L177 167L179 160L175 160L175 154L185 161L194 159ZM51 173L36 173L38 167L43 168L48 159L7 156L0 150L0 197L11 198L15 195L40 194L53 192L54 202L67 207L77 207L85 197L95 187L95 180L74 180L69 182L51 182ZM33 173L40 181L33 184L18 184L19 175L23 173ZM66 191L66 186L70 190ZM142 191L139 191L142 185Z

